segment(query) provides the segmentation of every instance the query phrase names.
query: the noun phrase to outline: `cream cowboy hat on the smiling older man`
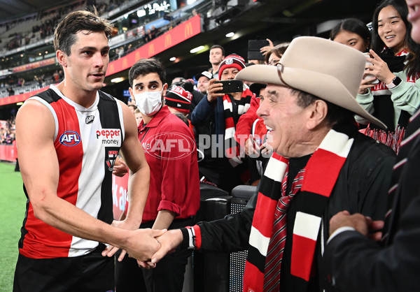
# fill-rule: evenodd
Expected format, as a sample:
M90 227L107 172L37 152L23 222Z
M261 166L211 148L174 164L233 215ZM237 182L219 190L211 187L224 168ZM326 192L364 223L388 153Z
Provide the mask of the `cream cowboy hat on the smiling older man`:
M300 36L293 39L277 66L249 66L236 79L283 85L308 92L346 108L386 129L356 101L365 56L349 46L325 38Z

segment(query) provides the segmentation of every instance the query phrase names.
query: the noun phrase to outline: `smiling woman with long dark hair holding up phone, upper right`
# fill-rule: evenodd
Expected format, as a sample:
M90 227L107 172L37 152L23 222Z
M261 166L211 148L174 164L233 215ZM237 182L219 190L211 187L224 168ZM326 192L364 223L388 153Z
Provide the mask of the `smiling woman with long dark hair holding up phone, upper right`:
M366 73L378 84L363 82L357 101L388 127L374 126L366 134L398 153L409 117L420 105L420 45L410 36L405 1L384 0L374 10L372 20L372 65ZM358 122L362 120L356 118Z

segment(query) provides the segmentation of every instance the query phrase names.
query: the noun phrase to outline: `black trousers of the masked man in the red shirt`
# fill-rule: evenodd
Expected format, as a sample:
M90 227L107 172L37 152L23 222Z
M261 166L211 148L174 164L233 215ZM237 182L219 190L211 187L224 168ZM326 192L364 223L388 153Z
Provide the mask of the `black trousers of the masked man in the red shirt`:
M174 220L169 229L193 225L193 219ZM141 228L151 228L153 222L141 224ZM188 257L192 250L178 249L156 264L156 268L139 268L134 258L125 256L116 261L116 292L181 292ZM118 255L116 255L118 258Z

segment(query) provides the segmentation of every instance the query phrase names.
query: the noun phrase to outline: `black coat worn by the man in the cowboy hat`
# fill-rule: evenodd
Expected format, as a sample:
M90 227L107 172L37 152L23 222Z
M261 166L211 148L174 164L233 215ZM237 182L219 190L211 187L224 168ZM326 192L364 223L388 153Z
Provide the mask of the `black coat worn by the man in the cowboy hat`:
M372 219L384 218L386 191L389 187L393 163L395 163L395 154L390 148L363 134L357 134L323 215L323 244L328 239L330 218L339 211L359 212ZM200 250L232 252L247 249L257 194L258 189L240 213L230 214L224 219L212 222L200 222L198 224L202 237ZM298 200L299 193L296 194L293 202L298 202ZM293 212L292 205L289 212ZM288 218L294 218L294 214L290 216L289 212ZM288 221L290 231L293 231L293 221ZM291 240L291 237L288 236L287 240ZM315 258L317 264L321 259L320 243L321 240L318 237ZM286 249L283 259L287 261L287 256L290 257L290 254L291 252ZM293 283L286 283L286 286L286 291L299 291L293 287ZM320 289L318 286L316 284L314 291Z

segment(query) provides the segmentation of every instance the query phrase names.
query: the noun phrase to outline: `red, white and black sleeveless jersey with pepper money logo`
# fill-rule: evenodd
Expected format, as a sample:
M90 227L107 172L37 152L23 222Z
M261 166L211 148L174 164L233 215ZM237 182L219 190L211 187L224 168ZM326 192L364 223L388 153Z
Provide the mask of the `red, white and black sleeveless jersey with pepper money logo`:
M112 170L124 140L120 103L109 94L98 92L94 104L84 108L54 85L30 99L43 103L55 119L54 145L59 162L57 196L111 224ZM19 241L23 256L82 256L97 245L98 242L77 238L36 219L28 200Z

